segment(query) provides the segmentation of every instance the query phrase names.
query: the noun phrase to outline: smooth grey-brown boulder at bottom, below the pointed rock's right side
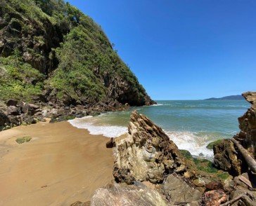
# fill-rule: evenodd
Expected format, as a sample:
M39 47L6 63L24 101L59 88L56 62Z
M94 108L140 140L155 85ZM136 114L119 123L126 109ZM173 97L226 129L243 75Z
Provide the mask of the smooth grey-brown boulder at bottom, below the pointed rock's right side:
M199 205L202 197L202 193L200 193L200 191L190 186L178 175L174 174L169 174L163 183L162 191L167 200L170 200L177 205L182 203Z

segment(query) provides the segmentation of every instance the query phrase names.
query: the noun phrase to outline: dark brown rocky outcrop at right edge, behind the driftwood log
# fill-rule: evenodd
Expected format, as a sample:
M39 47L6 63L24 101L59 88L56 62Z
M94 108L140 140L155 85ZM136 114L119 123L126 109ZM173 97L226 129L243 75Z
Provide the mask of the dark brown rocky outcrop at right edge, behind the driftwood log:
M233 140L224 139L213 146L215 165L233 176L238 176L248 170L247 157L245 161L244 154L239 147L249 152L250 159L253 160L253 157L256 157L256 92L245 92L243 97L252 105L243 116L238 118L241 131L233 137Z

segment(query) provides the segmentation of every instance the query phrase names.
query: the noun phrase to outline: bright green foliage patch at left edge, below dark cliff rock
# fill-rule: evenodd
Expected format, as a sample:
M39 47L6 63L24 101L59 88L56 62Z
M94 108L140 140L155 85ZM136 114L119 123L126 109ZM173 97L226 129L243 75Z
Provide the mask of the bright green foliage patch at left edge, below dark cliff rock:
M18 51L13 56L0 57L1 99L30 100L41 94L44 75L30 64L22 62Z

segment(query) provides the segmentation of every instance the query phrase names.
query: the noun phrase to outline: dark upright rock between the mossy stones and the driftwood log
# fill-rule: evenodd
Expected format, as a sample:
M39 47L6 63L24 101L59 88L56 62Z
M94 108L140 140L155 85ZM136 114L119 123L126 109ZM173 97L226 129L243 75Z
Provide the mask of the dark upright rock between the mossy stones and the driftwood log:
M233 142L223 139L213 146L215 166L237 176L243 171L243 157L236 151Z

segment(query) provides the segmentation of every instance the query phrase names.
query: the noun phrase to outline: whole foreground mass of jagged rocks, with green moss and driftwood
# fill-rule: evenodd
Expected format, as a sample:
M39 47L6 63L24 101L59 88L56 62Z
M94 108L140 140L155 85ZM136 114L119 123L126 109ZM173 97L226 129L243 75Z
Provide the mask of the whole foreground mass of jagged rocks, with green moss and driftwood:
M128 134L111 139L115 181L91 202L73 205L255 205L255 92L238 118L241 132L213 144L214 163L180 151L150 119L134 111Z

